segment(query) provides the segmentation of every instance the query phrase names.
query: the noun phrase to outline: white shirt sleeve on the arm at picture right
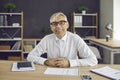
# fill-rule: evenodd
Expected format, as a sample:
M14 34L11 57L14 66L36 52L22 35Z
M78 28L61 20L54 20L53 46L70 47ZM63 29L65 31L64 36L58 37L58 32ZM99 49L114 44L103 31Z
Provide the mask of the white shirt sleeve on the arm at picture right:
M82 39L79 39L77 44L78 55L81 59L69 59L70 67L96 65L98 63L97 58L88 45Z

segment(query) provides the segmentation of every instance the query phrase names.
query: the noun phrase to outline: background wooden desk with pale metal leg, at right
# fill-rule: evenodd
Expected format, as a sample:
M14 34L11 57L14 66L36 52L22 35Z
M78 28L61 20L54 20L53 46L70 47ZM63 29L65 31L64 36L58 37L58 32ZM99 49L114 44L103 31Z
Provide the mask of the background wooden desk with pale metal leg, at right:
M114 54L120 54L120 40L110 39L108 42L106 42L106 39L90 39L90 43L109 50L111 56L111 64L114 63Z

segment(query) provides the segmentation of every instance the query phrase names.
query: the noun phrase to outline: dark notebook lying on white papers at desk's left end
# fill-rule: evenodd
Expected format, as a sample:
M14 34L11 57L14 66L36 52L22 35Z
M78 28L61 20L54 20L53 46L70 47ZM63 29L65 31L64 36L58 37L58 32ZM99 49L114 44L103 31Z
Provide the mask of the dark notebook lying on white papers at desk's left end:
M11 71L34 71L35 66L33 62L14 62Z

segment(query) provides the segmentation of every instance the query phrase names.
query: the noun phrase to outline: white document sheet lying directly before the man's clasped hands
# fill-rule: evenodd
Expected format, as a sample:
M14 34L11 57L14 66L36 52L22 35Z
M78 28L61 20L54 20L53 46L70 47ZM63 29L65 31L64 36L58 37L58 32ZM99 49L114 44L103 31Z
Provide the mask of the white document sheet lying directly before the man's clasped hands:
M67 75L67 76L79 76L80 71L78 68L47 68L44 74L48 75Z

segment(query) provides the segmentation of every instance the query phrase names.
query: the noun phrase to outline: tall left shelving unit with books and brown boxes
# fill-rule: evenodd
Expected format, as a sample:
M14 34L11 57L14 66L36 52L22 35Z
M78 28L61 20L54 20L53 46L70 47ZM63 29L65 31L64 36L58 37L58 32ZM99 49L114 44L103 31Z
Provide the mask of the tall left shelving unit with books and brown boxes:
M23 12L0 13L0 59L22 60Z

